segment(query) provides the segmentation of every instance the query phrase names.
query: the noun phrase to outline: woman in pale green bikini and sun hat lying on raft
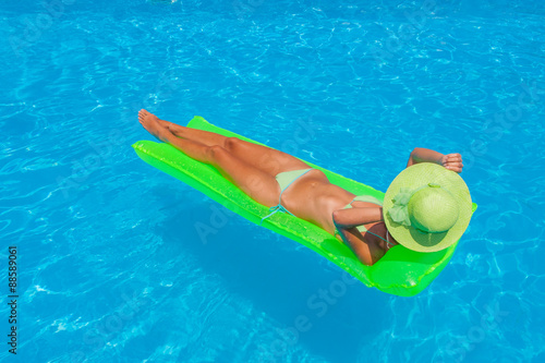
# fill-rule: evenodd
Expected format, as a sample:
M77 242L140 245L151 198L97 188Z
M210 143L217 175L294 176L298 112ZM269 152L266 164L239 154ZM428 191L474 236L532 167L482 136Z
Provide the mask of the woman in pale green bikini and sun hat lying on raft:
M380 201L359 197L331 184L323 171L286 153L181 126L146 110L138 112L138 120L160 141L214 166L257 203L290 213L336 235L365 265L373 265L398 243L420 252L444 249L456 242L469 225L471 198L457 174L463 168L460 154L415 148L407 167L426 166L421 165L416 174L417 168L411 176L405 169L396 178L396 191L390 185L385 197L385 211L387 204L391 211L386 214ZM395 194L388 197L389 192Z

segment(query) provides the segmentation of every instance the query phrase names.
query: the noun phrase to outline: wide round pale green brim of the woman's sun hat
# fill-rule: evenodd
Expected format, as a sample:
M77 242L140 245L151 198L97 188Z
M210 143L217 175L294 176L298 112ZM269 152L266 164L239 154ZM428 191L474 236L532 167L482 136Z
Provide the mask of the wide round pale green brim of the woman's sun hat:
M388 214L393 206L393 197L401 187L414 190L428 183L445 187L459 203L457 222L443 233L426 233L412 226L397 223ZM383 215L388 231L400 244L417 252L436 252L456 243L462 237L471 220L471 208L470 191L458 173L437 164L421 162L407 168L393 179L384 197Z

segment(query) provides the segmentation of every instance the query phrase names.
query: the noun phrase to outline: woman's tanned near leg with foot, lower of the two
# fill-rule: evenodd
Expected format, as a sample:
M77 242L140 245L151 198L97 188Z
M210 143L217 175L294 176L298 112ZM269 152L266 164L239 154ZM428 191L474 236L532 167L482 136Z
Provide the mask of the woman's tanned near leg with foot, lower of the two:
M234 185L257 203L271 207L278 204L280 187L276 179L237 158L219 145L207 146L199 142L177 137L156 119L138 114L142 125L157 138L169 143L198 161L210 164Z

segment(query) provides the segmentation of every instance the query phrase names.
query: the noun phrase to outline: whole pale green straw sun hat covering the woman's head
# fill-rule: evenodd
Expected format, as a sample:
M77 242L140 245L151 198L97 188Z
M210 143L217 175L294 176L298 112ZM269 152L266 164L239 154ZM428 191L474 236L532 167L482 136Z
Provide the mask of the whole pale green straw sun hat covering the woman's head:
M390 234L417 252L440 251L460 239L471 219L462 178L431 162L401 171L386 191L383 214Z

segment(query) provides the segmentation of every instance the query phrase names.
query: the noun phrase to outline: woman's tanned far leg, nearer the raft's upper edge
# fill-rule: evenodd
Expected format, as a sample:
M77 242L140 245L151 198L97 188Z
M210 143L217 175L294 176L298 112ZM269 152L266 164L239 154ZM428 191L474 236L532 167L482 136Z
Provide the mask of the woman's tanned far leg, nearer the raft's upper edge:
M238 137L226 137L214 132L178 125L169 121L160 120L146 110L141 110L138 114L141 117L157 120L159 124L167 128L175 136L195 141L207 146L221 146L237 158L270 176L276 176L281 171L310 168L308 165L298 158L267 146L249 143Z

